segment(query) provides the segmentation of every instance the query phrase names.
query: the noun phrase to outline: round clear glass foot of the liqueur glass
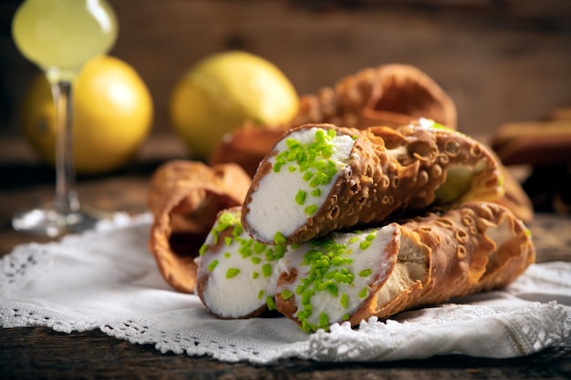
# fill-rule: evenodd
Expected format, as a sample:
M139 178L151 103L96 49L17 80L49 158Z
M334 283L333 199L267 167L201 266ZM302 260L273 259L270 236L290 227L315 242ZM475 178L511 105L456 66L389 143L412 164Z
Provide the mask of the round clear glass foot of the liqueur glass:
M47 206L16 213L12 218L12 227L20 232L57 237L89 230L98 221L94 213L85 210L64 213Z

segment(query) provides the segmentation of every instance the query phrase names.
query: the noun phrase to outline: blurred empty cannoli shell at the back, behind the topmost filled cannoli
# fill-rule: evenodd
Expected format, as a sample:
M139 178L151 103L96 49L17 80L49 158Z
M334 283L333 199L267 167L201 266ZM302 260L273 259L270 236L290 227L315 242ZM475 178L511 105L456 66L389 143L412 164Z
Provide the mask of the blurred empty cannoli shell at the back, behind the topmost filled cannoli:
M291 123L294 127L331 123L396 128L417 118L431 118L452 129L457 125L452 98L426 73L410 65L367 67L300 100Z

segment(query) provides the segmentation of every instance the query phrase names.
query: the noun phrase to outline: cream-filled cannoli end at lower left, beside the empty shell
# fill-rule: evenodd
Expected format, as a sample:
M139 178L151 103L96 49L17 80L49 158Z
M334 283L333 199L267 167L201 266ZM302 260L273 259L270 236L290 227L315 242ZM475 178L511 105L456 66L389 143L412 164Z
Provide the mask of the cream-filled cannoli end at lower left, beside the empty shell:
M275 265L285 245L254 241L242 228L240 207L220 211L196 258L196 294L222 319L249 318L275 310Z

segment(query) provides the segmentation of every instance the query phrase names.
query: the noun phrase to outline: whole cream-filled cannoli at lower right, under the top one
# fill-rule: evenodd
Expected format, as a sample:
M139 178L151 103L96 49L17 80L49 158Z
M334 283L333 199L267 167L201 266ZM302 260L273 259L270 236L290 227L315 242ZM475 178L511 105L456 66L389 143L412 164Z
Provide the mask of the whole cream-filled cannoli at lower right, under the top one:
M511 211L468 202L297 245L278 263L275 306L306 332L357 325L501 288L534 261L530 232Z

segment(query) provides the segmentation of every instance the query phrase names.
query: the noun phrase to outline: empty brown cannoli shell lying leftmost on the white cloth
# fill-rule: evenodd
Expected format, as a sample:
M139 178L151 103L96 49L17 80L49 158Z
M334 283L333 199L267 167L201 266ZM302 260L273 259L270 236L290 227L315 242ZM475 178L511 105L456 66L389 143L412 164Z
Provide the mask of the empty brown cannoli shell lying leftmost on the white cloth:
M193 293L194 258L219 211L244 201L250 177L236 164L172 160L151 177L149 249L171 287Z

